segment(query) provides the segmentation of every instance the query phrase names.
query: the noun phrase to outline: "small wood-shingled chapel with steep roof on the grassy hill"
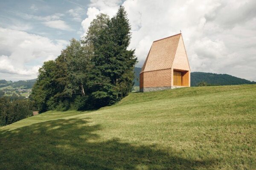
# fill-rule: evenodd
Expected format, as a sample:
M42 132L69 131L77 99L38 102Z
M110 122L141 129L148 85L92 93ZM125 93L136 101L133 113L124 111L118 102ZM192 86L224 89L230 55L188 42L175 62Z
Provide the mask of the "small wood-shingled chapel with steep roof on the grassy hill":
M182 34L156 40L140 72L140 92L190 87L190 67Z

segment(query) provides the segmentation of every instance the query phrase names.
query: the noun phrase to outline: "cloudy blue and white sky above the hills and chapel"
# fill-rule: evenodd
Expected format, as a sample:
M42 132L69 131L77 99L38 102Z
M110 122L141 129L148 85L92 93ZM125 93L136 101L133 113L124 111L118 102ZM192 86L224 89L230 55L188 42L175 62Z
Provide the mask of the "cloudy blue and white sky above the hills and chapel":
M0 79L37 77L99 13L125 7L141 67L154 40L182 31L191 71L256 81L256 0L0 0Z

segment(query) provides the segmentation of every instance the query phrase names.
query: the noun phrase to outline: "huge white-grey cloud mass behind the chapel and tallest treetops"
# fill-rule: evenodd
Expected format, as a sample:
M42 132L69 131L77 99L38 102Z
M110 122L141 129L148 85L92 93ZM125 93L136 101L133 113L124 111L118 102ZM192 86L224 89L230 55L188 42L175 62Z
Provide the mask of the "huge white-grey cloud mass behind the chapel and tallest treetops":
M119 5L132 28L130 48L142 66L154 40L183 33L192 71L226 73L256 81L255 0L91 0L81 25L96 14L112 17Z

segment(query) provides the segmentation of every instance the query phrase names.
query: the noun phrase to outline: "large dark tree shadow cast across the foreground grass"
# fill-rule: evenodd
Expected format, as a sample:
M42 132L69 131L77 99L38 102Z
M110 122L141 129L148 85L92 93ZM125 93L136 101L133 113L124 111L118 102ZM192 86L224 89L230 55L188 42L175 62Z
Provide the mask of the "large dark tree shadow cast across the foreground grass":
M179 157L172 150L104 141L90 119L58 119L3 133L0 169L196 169L215 164Z

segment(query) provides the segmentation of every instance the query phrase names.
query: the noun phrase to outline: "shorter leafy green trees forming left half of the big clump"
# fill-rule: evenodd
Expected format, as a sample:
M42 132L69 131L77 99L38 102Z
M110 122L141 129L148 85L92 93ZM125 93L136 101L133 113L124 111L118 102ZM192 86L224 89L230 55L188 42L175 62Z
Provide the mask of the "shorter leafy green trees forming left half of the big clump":
M72 39L55 61L44 62L30 97L40 112L66 111L77 95L85 95L91 53L88 46Z

